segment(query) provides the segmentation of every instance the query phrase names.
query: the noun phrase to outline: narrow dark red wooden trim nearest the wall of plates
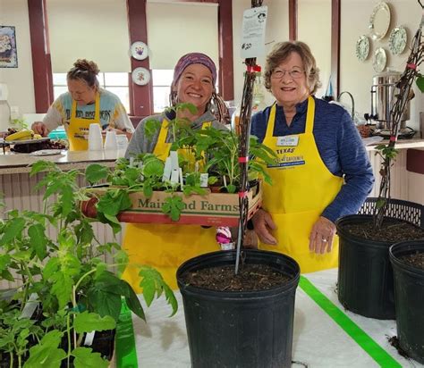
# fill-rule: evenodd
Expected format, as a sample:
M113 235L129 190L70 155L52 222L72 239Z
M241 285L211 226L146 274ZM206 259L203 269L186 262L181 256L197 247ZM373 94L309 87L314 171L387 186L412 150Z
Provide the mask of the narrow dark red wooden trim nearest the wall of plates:
M335 98L340 91L340 2L331 1L331 83Z

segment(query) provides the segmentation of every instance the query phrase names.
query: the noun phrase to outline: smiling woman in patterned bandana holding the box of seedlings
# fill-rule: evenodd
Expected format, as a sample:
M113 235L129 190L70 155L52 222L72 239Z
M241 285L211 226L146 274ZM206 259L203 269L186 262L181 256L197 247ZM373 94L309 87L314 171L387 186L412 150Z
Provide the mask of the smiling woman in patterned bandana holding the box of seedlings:
M188 110L178 111L178 118L191 121L193 130L212 126L225 129L226 107L221 97L216 95L216 66L206 55L185 54L174 68L170 103L191 103L197 113ZM213 104L212 104L213 103ZM212 105L216 110L212 112ZM131 138L125 157L140 153L153 153L165 160L172 143L169 121L175 118L174 112L165 112L140 121ZM146 138L145 123L148 120L161 121L161 128L152 138ZM189 258L219 250L216 244L215 228L204 229L198 225L127 224L123 238L123 248L130 255L130 263L148 264L161 272L168 285L176 289L175 272L178 266ZM140 276L136 269L128 266L123 279L140 290Z

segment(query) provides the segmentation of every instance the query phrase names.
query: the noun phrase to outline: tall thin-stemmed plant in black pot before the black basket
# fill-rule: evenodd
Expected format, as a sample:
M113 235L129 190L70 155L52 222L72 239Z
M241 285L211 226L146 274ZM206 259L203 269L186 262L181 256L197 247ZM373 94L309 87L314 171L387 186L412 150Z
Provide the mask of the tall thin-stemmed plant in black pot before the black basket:
M424 223L420 220L422 205L390 198L390 170L397 155L395 143L404 109L413 97L414 80L422 87L419 69L423 58L421 22L406 68L395 86L389 141L376 147L377 155L381 156L378 197L369 202L371 207L366 204L371 210L368 214L345 216L336 223L340 238L339 301L354 313L377 319L395 317L389 247L403 240L424 239Z

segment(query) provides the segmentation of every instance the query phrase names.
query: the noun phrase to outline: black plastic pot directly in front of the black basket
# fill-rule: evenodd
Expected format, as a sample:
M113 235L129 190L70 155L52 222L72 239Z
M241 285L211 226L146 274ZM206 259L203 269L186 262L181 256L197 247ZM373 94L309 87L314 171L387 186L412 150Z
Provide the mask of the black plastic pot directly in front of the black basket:
M371 218L369 214L352 214L335 224L339 236L338 299L353 313L393 320L393 270L388 255L393 243L355 237L343 228Z

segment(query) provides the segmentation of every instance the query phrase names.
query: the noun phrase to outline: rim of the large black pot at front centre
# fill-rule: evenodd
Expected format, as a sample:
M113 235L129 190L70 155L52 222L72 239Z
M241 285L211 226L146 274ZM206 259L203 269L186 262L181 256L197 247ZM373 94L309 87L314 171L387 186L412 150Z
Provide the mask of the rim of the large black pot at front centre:
M248 256L249 254L250 255L265 255L266 257L276 256L278 258L284 259L284 261L288 261L289 263L292 263L294 268L293 273L292 274L287 273L287 276L293 277L292 280L289 280L286 283L284 283L284 285L277 286L275 288L264 289L264 290L247 290L247 291L220 291L220 290L212 290L212 289L202 289L199 287L186 285L182 283L181 281L182 274L186 271L196 269L196 263L199 263L204 259L208 259L208 258L221 259L222 258L224 261L225 259L233 258L235 260L235 254L236 254L235 250L224 250L224 251L220 250L217 252L210 252L204 255L196 256L182 263L180 267L178 267L178 270L176 272L178 288L180 290L184 289L184 292L189 292L189 293L191 292L205 293L205 294L208 294L208 296L210 297L220 296L220 297L228 297L228 298L236 299L236 298L242 298L242 297L243 298L244 297L259 297L259 296L265 297L268 295L274 295L274 294L281 293L285 290L296 288L297 285L299 284L299 280L301 277L301 268L299 264L292 257L288 255L284 255L282 253L271 252L267 250L259 250L259 249L243 249L243 252L247 253ZM190 267L191 263L193 264ZM216 263L212 264L212 266L216 266ZM206 268L206 267L200 267L200 268Z

